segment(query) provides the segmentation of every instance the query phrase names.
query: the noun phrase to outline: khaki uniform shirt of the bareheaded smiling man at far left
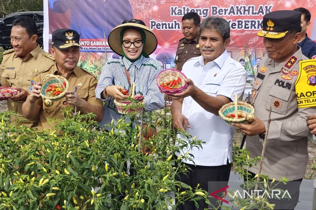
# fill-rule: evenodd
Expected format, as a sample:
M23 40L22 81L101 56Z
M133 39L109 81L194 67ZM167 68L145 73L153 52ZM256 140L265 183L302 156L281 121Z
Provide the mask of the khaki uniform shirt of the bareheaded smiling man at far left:
M33 80L36 72L42 71L55 64L55 59L51 54L46 53L39 45L30 52L25 60L22 60L14 53L14 49L5 51L3 53L3 61L0 65L0 80L1 84L9 84L12 88L19 87L27 90L30 89L31 80ZM22 111L23 101L15 102L8 99L9 111L14 111L23 120L21 124L26 127L36 127L39 118L35 120L27 120L24 118ZM16 117L10 115L10 123L15 122Z

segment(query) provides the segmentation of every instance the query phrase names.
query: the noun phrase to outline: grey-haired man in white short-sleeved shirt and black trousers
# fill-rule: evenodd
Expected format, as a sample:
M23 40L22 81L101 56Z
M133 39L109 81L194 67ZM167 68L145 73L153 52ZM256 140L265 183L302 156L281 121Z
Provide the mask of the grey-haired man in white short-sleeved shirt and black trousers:
M206 142L202 145L203 149L189 150L194 155L194 163L184 161L191 170L188 174L180 174L180 181L192 188L200 184L199 187L212 193L220 189L218 186L227 185L232 162L234 128L218 116L218 111L232 102L235 94L238 97L243 94L246 71L226 51L230 43L227 20L215 16L205 18L199 34L202 56L191 58L184 64L182 72L188 78L188 87L172 96L171 112L174 127ZM179 137L182 138L181 135ZM208 208L203 200L198 204L199 209ZM178 208L196 209L193 201L185 202Z

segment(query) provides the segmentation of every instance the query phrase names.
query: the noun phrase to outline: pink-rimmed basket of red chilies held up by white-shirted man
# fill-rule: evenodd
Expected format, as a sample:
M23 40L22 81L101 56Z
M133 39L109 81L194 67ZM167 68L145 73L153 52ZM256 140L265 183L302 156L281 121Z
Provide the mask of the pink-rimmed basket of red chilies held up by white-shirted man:
M161 71L156 77L156 84L161 93L172 95L181 93L188 83L184 81L185 75L175 69L166 69Z

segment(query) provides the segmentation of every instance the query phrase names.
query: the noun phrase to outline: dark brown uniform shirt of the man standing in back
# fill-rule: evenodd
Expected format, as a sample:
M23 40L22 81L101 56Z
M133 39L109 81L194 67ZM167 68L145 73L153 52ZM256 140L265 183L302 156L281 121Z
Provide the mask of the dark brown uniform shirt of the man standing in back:
M187 60L201 55L198 40L199 36L191 42L189 42L189 40L185 37L179 39L176 58L174 60L174 63L178 65L177 70L182 71L182 66Z

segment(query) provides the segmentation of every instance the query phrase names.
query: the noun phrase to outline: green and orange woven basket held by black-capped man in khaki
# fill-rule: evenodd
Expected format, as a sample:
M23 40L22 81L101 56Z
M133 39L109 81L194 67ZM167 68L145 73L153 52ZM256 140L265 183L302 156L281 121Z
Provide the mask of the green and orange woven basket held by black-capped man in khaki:
M57 100L62 99L69 88L69 83L65 77L62 77L59 75L53 75L53 74L47 74L42 79L41 84L42 84L42 89L40 91L40 96L43 99L50 99L52 101L57 101ZM66 85L66 87L64 86L64 84ZM54 85L57 88L61 88L63 92L55 96L50 95L48 92L46 92L48 88L51 88L49 85Z

